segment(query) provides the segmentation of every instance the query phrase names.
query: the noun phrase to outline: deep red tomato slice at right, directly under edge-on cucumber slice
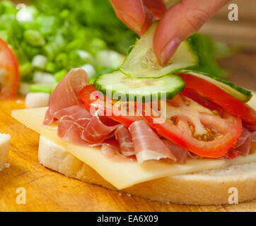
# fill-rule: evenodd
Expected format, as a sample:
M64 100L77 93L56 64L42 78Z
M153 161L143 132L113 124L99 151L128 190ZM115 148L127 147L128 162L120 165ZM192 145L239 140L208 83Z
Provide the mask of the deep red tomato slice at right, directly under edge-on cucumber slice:
M226 112L240 117L245 124L248 124L249 129L256 129L256 111L249 105L236 99L232 95L221 90L218 86L205 81L202 78L192 76L190 74L179 74L179 76L185 81L185 89L182 92L183 95L192 98L193 100L206 105L210 100L216 105L219 105ZM204 97L204 98L202 98ZM206 105L206 107L209 107Z

